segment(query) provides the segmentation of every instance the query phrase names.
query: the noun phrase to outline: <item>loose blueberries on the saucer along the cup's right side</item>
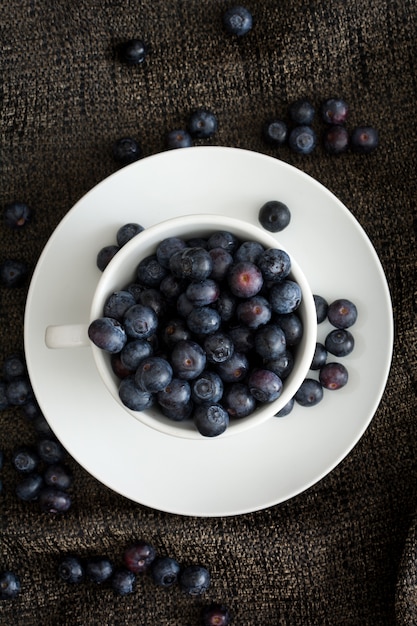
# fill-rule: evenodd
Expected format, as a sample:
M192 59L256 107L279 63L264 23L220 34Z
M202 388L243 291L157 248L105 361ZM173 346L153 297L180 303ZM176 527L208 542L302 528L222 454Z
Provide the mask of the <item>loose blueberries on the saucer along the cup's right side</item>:
M277 417L288 415L297 402L301 406L315 406L323 399L325 389L335 391L341 389L348 382L348 370L343 363L329 361L332 357L345 357L352 352L355 340L349 328L358 317L356 305L347 298L338 298L330 304L323 296L314 295L317 323L330 322L334 329L329 331L324 343L317 342L313 360L310 366L312 371L318 372L318 380L308 377L301 384L294 398L283 407Z

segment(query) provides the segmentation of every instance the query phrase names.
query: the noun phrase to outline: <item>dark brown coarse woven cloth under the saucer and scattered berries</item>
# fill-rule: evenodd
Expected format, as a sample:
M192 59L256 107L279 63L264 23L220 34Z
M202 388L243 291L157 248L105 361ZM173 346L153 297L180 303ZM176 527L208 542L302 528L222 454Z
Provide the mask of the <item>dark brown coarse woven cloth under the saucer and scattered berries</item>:
M19 573L22 592L0 603L1 624L191 626L210 600L227 603L240 626L417 623L416 4L251 0L254 28L241 40L222 30L229 5L1 3L0 205L20 199L35 214L19 232L0 225L1 260L35 266L74 202L117 169L117 138L136 137L145 155L155 154L165 149L167 131L207 106L219 118L213 142L292 163L330 188L365 228L393 299L396 343L386 392L359 444L330 475L288 502L243 516L194 519L149 510L72 462L73 506L53 517L17 500L6 459L0 569ZM133 36L151 46L140 69L115 54ZM378 127L377 152L334 158L318 147L301 157L264 143L262 123L290 101L308 96L319 103L334 94L350 103L350 124ZM2 356L22 347L26 293L27 284L1 288ZM0 422L8 458L19 443L35 440L19 410L4 411ZM190 599L145 579L120 598L57 580L61 553L105 553L117 561L138 537L181 561L207 564L208 594Z

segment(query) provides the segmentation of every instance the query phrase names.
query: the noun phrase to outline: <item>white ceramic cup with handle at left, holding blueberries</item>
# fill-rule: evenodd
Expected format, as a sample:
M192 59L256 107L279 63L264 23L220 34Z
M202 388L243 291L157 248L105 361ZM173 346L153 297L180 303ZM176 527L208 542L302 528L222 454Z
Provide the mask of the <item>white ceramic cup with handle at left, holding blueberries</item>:
M140 412L128 409L119 398L118 378L111 368L110 355L97 348L90 341L88 326L93 320L102 317L104 303L113 292L123 289L130 282L134 282L135 269L141 259L154 254L157 245L163 239L166 237L183 237L184 239L204 237L219 230L229 231L242 241L259 241L265 248L285 249L272 233L248 222L223 215L185 215L166 220L136 235L112 259L98 281L89 320L76 320L74 324L55 325L46 328L45 342L51 349L79 347L91 349L97 370L113 398L133 417L166 435L210 440L209 437L203 437L197 431L192 420L175 422L163 416L157 407ZM237 434L276 415L295 395L310 368L317 341L317 317L314 299L304 273L296 260L292 258L291 252L286 251L291 258L290 278L299 284L303 296L297 312L302 320L304 330L301 342L295 351L293 370L285 379L283 391L277 400L260 405L254 413L247 417L232 418L228 428L220 437ZM104 388L103 392L105 392Z

